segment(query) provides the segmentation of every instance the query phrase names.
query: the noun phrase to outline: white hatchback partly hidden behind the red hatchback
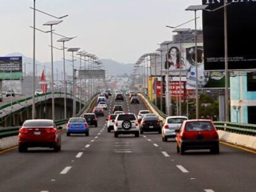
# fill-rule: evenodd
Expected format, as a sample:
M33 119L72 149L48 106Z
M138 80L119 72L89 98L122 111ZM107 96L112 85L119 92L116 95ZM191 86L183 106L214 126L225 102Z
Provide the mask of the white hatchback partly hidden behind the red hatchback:
M168 138L175 138L175 130L181 127L181 124L187 120L186 116L171 116L167 117L162 127L162 140L168 141Z

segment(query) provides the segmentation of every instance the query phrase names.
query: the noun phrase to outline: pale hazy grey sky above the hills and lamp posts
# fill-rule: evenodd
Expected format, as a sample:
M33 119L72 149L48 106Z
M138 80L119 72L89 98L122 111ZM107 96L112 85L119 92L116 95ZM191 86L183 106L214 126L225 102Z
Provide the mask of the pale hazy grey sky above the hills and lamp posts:
M78 36L67 47L96 54L101 59L134 63L157 43L171 40L171 30L165 25L179 25L194 18L185 9L202 4L202 0L36 0L36 8L58 17L68 14L64 22L54 27L56 33ZM33 55L33 0L0 0L0 56L11 52ZM201 16L201 12L198 12ZM49 30L43 23L55 20L36 12L36 27ZM202 17L198 28L202 27ZM184 27L194 28L191 22ZM61 46L54 36L54 46ZM36 31L36 59L50 61L50 35ZM70 54L67 54L69 57ZM54 50L54 61L62 52Z

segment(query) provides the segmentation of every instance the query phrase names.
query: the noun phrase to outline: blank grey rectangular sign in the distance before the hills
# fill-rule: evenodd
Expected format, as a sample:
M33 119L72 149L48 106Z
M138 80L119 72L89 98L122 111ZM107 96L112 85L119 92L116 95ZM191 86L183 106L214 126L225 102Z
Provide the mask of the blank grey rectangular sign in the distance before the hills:
M105 70L78 70L79 79L105 79Z

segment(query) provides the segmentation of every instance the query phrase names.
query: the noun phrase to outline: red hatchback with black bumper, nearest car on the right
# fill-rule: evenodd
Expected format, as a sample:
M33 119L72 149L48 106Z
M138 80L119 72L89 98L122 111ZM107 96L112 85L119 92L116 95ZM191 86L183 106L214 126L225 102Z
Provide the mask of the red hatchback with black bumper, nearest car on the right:
M185 120L176 133L180 154L190 149L210 149L213 154L220 154L218 132L211 120Z

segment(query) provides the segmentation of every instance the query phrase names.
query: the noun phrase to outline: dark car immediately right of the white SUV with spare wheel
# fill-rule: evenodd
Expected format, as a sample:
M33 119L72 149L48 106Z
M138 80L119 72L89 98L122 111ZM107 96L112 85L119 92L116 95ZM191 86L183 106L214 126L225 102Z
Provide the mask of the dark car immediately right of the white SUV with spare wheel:
M161 121L158 117L143 117L142 122L140 122L140 133L151 131L161 133Z

